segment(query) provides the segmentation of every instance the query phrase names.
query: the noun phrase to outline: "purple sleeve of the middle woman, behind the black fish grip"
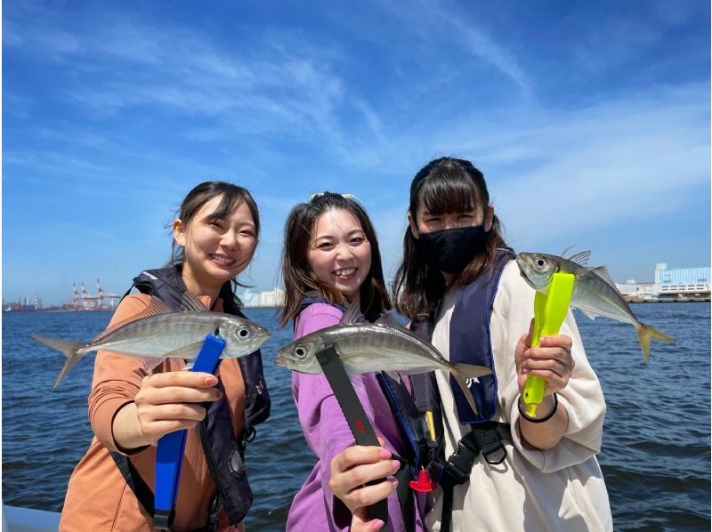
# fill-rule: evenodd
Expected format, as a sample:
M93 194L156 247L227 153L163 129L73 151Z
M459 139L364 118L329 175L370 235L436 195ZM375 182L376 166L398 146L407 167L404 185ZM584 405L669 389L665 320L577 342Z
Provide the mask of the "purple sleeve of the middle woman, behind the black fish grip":
M327 326L336 325L341 314L341 310L328 304L314 303L310 305L297 318L295 338L308 335ZM353 375L353 387L368 418L372 420L372 408L360 382L361 379L362 375ZM321 463L321 489L328 505L331 526L347 530L351 525L351 512L334 496L328 483L331 480L332 459L354 443L351 429L346 423L334 391L331 390L331 386L323 374L311 375L293 372L292 392L304 438Z

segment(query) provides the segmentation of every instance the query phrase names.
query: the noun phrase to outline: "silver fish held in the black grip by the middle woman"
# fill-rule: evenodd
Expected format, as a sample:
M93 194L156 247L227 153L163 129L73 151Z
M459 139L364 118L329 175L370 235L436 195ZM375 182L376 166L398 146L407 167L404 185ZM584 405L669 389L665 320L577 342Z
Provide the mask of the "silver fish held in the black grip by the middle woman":
M474 412L477 407L465 381L492 373L487 367L449 362L433 345L401 326L390 314L368 323L360 316L358 305L352 305L338 325L280 348L275 364L300 373L318 374L321 367L316 353L329 346L334 346L349 374L388 371L410 375L446 369L455 377Z

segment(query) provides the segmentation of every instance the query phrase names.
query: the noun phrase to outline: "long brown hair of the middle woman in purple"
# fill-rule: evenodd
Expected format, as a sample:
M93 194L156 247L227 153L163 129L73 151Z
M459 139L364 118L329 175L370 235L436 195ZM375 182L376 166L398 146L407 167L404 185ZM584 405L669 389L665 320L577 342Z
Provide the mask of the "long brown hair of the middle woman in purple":
M359 202L333 192L314 195L308 202L295 206L287 216L284 227L284 246L280 270L285 287L285 302L279 325L284 326L296 318L302 310L301 302L307 292L316 290L328 302L344 304L346 298L341 291L328 286L316 278L309 266L309 249L317 220L322 214L332 210L351 214L361 226L371 246L371 268L360 286L359 302L363 315L376 319L384 310L391 309L388 291L385 288L384 272L381 266L381 252L378 249L376 230L368 219L368 214Z

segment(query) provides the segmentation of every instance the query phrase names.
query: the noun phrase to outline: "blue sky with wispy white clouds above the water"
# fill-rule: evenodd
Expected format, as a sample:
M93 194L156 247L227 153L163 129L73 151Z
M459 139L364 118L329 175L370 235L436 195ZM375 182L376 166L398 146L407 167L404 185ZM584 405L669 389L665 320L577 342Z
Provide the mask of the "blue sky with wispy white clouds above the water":
M200 181L282 225L351 192L388 276L409 182L473 160L517 251L591 249L614 279L710 257L709 3L4 2L3 297L123 293Z

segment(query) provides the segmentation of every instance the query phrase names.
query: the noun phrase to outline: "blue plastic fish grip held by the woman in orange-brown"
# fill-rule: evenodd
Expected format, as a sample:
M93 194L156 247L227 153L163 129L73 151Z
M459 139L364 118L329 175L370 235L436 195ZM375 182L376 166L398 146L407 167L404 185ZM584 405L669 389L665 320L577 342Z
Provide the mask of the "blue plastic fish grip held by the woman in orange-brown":
M190 371L214 373L224 348L223 338L206 335ZM185 430L174 431L158 439L153 517L153 524L158 530L168 530L173 524L175 497L181 480L187 435L188 431Z

